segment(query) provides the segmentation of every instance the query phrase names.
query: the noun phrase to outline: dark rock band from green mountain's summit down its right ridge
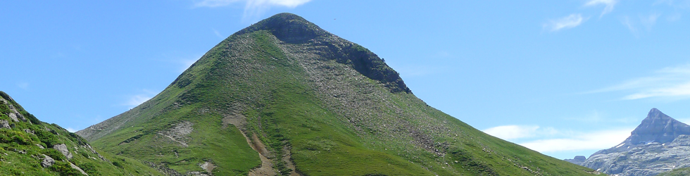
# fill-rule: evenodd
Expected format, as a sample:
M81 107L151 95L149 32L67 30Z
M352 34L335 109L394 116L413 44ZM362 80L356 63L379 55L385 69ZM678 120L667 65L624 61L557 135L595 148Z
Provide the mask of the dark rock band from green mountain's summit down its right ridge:
M287 44L321 45L318 55L346 63L362 75L385 84L391 92L412 93L399 73L390 68L382 58L359 44L337 37L299 15L278 13L232 34L240 36L257 31L268 31L280 42Z

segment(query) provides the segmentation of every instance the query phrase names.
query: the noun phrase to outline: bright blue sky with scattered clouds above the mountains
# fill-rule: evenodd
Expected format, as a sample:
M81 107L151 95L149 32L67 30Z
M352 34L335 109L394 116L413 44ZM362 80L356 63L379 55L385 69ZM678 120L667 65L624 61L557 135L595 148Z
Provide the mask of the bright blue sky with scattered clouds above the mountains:
M690 122L689 0L2 1L0 90L80 130L281 12L385 58L430 106L556 158L615 146L651 108Z

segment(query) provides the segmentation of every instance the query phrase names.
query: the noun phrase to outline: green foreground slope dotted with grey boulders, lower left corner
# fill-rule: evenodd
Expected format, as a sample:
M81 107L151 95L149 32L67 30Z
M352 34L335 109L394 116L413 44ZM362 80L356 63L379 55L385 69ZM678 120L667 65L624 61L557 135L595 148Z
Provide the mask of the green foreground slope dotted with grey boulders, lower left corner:
M88 175L161 175L141 161L99 152L77 134L41 122L0 92L0 175L83 175L82 171Z

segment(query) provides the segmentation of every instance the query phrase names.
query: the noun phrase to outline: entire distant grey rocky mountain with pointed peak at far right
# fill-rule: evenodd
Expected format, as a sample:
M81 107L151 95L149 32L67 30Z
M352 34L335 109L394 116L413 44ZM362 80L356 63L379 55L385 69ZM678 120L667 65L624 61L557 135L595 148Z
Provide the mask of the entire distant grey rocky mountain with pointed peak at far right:
M611 149L597 151L582 163L610 175L657 175L690 166L690 126L656 108L630 137Z

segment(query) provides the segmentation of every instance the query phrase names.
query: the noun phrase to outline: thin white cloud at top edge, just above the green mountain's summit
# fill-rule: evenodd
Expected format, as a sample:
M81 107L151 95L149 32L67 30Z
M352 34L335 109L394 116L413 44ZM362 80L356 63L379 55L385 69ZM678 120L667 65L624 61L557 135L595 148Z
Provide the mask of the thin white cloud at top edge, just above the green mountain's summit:
M242 15L242 20L253 20L253 18L258 18L259 15L268 11L273 6L283 6L287 8L295 8L302 4L306 4L311 0L203 0L196 1L194 6L196 7L221 7L230 6L231 4L244 3L244 13Z

